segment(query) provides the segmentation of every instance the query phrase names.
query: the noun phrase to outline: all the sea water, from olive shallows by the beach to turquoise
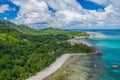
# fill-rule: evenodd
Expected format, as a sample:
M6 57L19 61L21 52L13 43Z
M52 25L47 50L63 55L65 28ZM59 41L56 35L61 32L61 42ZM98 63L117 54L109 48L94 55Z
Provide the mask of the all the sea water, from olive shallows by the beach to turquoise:
M91 39L94 47L103 55L74 56L71 63L48 77L47 80L120 80L120 30L94 30L112 36L106 39Z

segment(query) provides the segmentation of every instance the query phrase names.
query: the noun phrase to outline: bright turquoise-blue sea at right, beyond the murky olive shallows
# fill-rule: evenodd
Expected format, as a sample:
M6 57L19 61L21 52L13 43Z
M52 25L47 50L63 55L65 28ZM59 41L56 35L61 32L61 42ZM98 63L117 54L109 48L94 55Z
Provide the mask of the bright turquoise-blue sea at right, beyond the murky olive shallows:
M95 48L101 50L103 55L100 56L106 71L99 76L99 80L120 80L120 69L113 69L112 65L120 66L120 31L101 31L106 35L112 36L108 39L92 39ZM102 70L102 69L101 69Z

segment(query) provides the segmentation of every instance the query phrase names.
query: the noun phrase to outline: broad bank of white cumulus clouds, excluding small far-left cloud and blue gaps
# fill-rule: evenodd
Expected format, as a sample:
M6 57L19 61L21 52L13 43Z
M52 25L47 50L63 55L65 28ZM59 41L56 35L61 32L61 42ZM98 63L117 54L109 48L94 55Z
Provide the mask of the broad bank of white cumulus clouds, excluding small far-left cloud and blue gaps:
M20 6L13 22L33 28L46 27L102 27L120 25L120 9L117 2L91 0L106 6L105 11L85 10L76 0L11 0ZM49 7L55 10L52 12Z

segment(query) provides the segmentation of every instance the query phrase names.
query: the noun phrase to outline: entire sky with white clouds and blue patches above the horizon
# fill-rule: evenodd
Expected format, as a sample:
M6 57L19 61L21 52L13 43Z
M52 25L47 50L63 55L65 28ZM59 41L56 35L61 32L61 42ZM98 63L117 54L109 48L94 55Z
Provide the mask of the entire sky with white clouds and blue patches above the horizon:
M120 0L0 0L0 19L38 28L119 28L119 2Z

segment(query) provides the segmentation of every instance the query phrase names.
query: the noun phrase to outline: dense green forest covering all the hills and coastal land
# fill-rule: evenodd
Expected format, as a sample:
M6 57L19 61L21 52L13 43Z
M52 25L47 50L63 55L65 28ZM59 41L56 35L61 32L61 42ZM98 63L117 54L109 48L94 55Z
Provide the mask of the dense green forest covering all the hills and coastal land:
M75 35L88 36L52 28L39 31L0 20L0 80L25 80L64 53L92 52L87 45L67 42Z

